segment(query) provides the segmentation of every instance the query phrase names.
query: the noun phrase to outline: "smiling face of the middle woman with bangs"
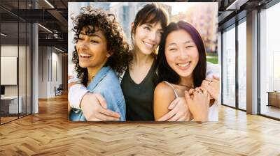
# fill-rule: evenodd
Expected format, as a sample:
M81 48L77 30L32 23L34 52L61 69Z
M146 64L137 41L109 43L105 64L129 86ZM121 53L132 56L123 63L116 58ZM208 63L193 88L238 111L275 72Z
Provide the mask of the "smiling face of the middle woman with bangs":
M137 26L136 32L134 33L134 49L150 55L160 44L162 32L160 22Z

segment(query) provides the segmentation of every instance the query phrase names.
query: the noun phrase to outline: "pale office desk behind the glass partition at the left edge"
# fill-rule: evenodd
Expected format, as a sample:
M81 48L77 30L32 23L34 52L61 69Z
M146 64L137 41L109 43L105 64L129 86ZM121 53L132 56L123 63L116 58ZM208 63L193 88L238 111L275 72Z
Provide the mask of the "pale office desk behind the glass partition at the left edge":
M18 102L18 99L20 102ZM19 96L4 96L1 97L1 111L3 114L18 114L22 113L22 97Z

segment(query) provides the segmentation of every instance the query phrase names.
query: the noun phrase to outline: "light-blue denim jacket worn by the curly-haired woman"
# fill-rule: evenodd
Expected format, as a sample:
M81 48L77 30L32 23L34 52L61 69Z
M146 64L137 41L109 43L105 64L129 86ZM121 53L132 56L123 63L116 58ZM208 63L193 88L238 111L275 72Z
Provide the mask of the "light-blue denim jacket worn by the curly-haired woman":
M120 121L125 121L125 98L120 88L118 77L111 67L103 67L87 86L90 93L100 93L106 100L108 109L120 114ZM80 109L72 108L69 120L86 121Z

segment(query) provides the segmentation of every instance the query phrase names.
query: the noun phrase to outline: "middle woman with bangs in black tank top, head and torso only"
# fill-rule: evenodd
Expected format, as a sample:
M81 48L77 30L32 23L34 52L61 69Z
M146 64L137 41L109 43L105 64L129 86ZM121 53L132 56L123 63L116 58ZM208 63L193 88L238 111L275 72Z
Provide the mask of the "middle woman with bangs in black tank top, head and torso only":
M158 83L155 50L166 26L167 13L158 3L144 6L132 22L133 59L121 81L127 120L155 120L153 92Z

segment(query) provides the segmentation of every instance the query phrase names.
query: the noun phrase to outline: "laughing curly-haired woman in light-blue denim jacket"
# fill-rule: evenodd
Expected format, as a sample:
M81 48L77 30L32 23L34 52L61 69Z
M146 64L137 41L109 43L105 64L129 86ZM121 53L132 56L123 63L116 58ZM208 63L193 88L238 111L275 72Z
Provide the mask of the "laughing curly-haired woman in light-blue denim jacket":
M95 116L102 120L105 115L118 113L119 120L124 121L125 98L116 72L122 73L132 56L123 40L123 30L113 15L88 6L73 19L73 31L76 46L72 61L77 77L90 93L99 93L107 102L107 108L99 108ZM69 110L69 120L88 120L81 109Z

